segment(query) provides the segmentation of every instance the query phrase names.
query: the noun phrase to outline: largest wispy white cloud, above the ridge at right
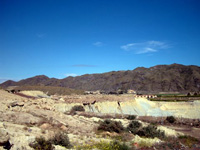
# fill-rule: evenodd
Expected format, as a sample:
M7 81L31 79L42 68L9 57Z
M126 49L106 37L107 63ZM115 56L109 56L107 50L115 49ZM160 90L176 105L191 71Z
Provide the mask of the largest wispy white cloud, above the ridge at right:
M145 54L158 52L161 49L167 49L169 45L161 41L147 41L142 43L129 43L121 46L125 51L134 51L135 54Z

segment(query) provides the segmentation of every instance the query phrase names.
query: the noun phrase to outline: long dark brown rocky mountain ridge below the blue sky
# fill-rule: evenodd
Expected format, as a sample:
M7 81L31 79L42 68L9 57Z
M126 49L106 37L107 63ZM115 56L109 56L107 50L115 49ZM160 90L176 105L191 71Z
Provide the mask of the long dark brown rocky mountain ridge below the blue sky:
M128 71L112 71L102 74L86 74L64 79L40 75L19 82L6 81L7 86L56 86L80 90L134 89L140 92L200 91L200 67L180 64L139 67Z

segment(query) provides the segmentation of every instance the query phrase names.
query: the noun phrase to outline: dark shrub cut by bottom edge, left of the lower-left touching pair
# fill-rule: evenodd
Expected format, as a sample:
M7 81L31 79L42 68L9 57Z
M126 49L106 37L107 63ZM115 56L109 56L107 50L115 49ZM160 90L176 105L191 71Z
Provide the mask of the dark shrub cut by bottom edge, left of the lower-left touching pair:
M43 137L36 138L35 142L29 144L30 147L34 148L35 150L53 150L54 147L52 143L48 140L45 140Z

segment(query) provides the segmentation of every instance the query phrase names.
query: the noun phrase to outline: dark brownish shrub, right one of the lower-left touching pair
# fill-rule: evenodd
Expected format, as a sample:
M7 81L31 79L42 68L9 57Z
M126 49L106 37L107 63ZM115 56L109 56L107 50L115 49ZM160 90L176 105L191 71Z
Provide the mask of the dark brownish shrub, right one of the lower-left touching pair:
M57 133L50 141L54 145L61 145L66 148L71 147L67 133Z

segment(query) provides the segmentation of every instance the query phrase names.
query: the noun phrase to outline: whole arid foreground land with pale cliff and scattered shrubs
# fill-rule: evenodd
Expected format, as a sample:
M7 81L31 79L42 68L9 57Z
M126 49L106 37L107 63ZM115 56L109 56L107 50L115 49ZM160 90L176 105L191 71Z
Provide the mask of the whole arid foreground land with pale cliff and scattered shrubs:
M0 150L200 148L199 101L0 90L0 106Z

